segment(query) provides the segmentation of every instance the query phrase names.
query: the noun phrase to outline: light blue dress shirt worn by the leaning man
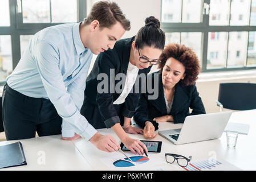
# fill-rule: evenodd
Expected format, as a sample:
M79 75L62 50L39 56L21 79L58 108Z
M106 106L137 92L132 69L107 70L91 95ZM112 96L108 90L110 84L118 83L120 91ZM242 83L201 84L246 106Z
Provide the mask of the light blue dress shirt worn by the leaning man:
M7 84L26 96L50 99L63 118L63 137L73 137L75 132L90 140L97 131L80 109L92 52L84 48L80 39L80 23L60 24L37 32L7 77Z

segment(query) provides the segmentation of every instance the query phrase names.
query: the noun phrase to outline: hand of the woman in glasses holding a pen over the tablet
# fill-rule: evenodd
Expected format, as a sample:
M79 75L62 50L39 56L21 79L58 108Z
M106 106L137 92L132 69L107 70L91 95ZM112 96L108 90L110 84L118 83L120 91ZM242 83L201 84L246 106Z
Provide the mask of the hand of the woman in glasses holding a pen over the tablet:
M128 137L122 142L126 148L132 151L133 154L136 154L137 151L139 155L143 155L143 150L148 152L148 148L145 146L145 144L138 139L132 139Z

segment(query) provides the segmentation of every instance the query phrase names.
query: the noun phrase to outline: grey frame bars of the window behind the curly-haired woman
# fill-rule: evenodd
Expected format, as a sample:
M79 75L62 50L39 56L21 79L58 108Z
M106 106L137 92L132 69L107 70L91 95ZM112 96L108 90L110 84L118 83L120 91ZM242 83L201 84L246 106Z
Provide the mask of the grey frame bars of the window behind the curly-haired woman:
M161 0L161 18L162 18L162 1ZM184 1L184 0L182 0ZM252 1L252 0L250 0ZM248 46L249 46L249 34L251 31L256 32L256 26L250 26L251 20L251 2L250 2L250 14L249 14L249 25L248 26L210 26L209 25L209 15L210 13L206 13L206 9L204 6L209 6L210 11L210 0L202 0L202 10L201 10L201 22L200 23L165 23L162 22L161 19L161 28L165 31L165 33L172 32L201 32L201 72L226 72L226 71L239 71L239 70L248 70L248 69L256 69L254 67L246 67L247 65L247 54L248 54ZM182 5L181 5L182 8ZM229 24L230 24L230 11L231 11L231 1L229 0ZM182 14L182 10L181 10ZM224 68L211 68L207 69L207 54L208 54L208 36L209 32L227 32L227 50L226 50L226 59L225 59L225 67ZM234 67L227 68L227 52L229 49L229 32L247 32L247 49L246 49L246 60L245 64L242 67Z

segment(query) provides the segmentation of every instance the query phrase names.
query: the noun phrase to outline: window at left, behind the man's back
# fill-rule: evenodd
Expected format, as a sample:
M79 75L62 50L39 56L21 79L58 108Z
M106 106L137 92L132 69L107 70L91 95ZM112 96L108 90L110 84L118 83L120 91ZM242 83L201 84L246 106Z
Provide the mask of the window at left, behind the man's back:
M5 81L21 59L29 40L39 30L86 18L86 0L1 0L0 81Z

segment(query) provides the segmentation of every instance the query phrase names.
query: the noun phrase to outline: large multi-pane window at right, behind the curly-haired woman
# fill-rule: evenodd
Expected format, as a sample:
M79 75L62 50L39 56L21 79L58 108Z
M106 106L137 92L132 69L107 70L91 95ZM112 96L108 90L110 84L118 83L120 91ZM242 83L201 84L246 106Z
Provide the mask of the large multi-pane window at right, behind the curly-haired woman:
M256 0L192 2L169 2L171 10L162 0L162 13L180 15L176 21L165 22L162 14L166 44L183 43L192 47L200 59L202 72L255 69ZM190 13L185 5L197 13Z

